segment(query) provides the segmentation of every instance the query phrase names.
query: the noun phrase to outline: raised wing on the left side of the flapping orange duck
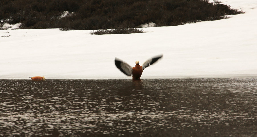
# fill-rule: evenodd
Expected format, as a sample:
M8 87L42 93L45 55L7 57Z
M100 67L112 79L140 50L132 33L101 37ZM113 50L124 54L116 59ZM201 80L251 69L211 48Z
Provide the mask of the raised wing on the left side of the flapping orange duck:
M118 69L121 70L124 74L131 76L132 75L132 67L129 66L126 62L123 62L119 58L115 58L115 65Z

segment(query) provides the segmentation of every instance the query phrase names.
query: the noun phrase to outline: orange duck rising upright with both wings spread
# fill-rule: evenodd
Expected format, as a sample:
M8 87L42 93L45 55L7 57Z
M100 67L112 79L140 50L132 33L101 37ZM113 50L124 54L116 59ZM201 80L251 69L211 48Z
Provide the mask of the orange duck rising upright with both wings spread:
M144 69L149 67L150 65L152 65L154 62L156 62L160 58L162 58L162 56L163 55L154 56L154 57L148 59L146 62L144 62L144 64L142 66L140 66L139 61L136 61L135 67L131 67L130 65L128 65L126 62L123 62L119 58L115 58L115 65L124 74L126 74L128 76L132 75L133 80L137 80L137 79L139 80Z

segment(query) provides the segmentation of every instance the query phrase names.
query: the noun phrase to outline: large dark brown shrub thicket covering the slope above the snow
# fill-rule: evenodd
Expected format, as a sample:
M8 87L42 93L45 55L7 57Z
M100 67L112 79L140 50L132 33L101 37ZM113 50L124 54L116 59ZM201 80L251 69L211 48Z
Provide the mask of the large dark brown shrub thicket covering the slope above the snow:
M74 12L60 18L63 11ZM23 23L22 28L135 28L150 21L173 26L197 20L224 19L243 13L208 0L1 0L0 23ZM224 17L225 16L225 17Z

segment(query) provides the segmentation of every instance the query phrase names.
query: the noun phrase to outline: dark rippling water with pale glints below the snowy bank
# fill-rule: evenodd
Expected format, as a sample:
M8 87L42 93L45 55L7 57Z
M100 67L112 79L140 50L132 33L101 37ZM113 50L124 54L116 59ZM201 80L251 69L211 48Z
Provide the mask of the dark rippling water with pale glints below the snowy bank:
M257 136L257 79L0 80L0 136Z

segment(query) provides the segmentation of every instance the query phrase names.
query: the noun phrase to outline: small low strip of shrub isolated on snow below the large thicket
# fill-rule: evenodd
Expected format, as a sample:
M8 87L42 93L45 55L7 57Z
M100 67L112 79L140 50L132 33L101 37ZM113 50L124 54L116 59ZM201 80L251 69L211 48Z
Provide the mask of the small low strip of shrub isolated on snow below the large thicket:
M143 33L142 29L138 28L117 28L117 29L104 29L92 31L90 34L102 35L102 34L130 34L130 33Z

